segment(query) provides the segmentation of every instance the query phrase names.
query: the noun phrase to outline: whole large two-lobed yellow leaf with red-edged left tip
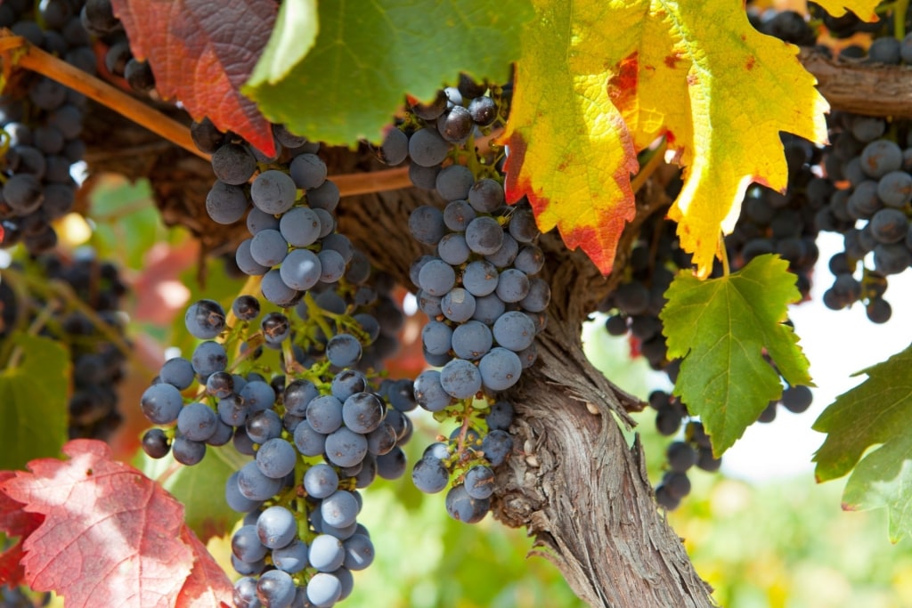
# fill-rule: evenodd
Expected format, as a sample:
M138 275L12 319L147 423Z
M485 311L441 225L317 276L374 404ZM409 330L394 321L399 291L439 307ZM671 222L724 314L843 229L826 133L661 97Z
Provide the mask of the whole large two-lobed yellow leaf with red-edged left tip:
M826 139L827 104L797 47L730 0L536 6L507 127L509 199L528 196L542 230L556 224L608 273L635 153L664 136L686 167L669 215L706 276L751 181L785 188L780 131Z

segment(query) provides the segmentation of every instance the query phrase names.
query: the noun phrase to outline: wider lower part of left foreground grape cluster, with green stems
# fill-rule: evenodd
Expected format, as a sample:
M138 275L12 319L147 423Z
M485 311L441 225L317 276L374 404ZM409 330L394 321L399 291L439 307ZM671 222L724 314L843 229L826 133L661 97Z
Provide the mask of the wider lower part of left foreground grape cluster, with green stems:
M340 315L295 319L261 306L238 296L233 325L212 300L188 308L185 325L203 341L191 358L168 360L143 394L143 413L159 425L143 447L154 458L171 450L186 465L229 441L253 457L225 488L228 505L247 513L232 540L233 566L244 575L235 605L330 606L351 592L351 572L373 560L357 521L358 489L405 472L401 446L415 402L402 382L334 364L331 340L322 356L304 354L317 342L310 330ZM284 374L269 373L264 347L281 353Z

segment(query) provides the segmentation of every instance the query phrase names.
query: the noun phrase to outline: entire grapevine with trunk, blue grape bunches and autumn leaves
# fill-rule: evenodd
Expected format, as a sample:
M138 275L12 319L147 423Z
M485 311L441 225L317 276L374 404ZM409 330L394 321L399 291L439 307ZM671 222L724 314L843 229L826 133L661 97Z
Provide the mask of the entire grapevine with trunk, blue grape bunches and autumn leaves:
M460 44L425 48L420 65L422 19L453 28L449 3L357 19L326 2L293 15L287 0L170 15L135 0L0 4L0 394L28 433L0 471L5 601L85 593L36 573L60 568L53 555L36 567L36 543L69 513L36 487L70 475L105 500L74 505L73 538L57 541L91 537L80 526L103 502L161 524L151 536L177 543L154 583L170 604L345 605L384 559L362 490L404 479L453 520L525 527L592 605L710 605L666 517L753 423L822 405L788 306L825 285L826 307L888 324L904 304L890 281L912 265L912 110L837 82L906 90L907 3L710 4L634 18L632 5L480 2L497 36L461 23ZM378 23L395 52L368 57ZM736 103L725 87L750 90ZM135 243L101 236L109 171L148 177L161 220L186 234L130 224L128 240L160 242L118 259ZM844 247L822 261L824 232ZM194 257L199 281L168 268L186 243L202 243L180 262L192 273ZM666 381L639 398L597 372L580 337L591 319ZM818 479L851 473L848 507L885 506L871 488L906 445L908 399L884 378L906 356L813 423L827 434ZM898 404L888 424L846 427L877 398ZM658 469L628 437L643 411L664 438ZM424 446L409 462L412 440ZM164 472L119 462L133 454ZM161 487L213 461L231 469L212 500L234 525L191 530ZM134 476L151 502L121 504L130 491L97 470ZM903 498L886 500L893 536L908 533ZM227 540L233 572L203 534ZM154 556L123 544L123 572L151 584ZM120 602L109 579L99 605Z

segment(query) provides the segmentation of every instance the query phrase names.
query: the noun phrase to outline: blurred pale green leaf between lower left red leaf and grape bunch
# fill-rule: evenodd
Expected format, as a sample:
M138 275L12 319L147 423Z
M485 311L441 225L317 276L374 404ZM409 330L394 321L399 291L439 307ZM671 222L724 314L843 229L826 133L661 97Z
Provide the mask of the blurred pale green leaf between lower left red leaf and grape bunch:
M159 478L171 467L177 468L164 479L161 487L181 501L187 525L203 542L212 536L223 536L243 517L243 513L231 510L223 497L225 481L250 459L230 445L222 448L207 446L206 457L192 467L177 464L171 453L156 460L140 450L139 456L137 468L151 479Z

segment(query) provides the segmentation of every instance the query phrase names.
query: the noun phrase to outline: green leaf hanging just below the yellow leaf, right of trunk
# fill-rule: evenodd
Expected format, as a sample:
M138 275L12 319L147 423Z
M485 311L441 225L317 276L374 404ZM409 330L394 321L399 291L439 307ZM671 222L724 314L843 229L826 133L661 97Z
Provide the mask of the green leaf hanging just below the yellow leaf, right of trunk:
M684 357L675 395L700 416L719 457L782 396L764 349L790 385L811 384L798 337L783 323L788 304L801 297L795 275L788 262L767 254L718 279L682 271L666 295L659 316L668 356Z

